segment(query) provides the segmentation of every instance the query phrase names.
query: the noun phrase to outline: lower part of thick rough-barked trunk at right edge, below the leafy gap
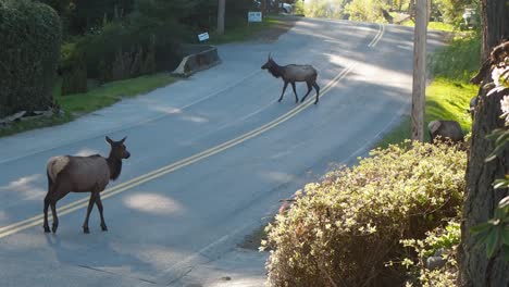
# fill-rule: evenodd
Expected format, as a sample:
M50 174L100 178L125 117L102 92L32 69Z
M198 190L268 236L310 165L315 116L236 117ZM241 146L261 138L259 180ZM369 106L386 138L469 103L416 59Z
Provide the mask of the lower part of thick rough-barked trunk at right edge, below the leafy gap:
M473 237L470 228L487 222L500 199L509 195L507 189L493 189L493 182L509 173L509 150L506 149L496 160L484 160L494 150L494 142L486 136L495 128L504 126L499 116L501 93L486 97L481 93L475 122L472 128L472 145L467 169L467 190L461 222L461 245L459 248L460 286L501 287L509 286L509 264L498 252L487 259L486 247Z

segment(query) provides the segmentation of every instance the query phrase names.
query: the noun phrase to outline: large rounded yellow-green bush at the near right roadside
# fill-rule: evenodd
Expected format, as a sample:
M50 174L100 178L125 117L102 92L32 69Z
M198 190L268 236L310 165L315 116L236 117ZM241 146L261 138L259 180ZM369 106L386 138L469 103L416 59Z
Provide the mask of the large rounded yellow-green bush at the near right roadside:
M430 144L376 149L352 169L306 186L268 226L270 286L400 286L402 238L457 216L467 155ZM334 283L334 284L333 284Z

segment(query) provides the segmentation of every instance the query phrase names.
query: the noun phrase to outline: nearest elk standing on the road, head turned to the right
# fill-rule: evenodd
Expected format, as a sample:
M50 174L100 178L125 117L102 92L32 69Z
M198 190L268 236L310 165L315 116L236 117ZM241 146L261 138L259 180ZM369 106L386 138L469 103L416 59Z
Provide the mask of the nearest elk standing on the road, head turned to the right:
M88 234L88 217L96 203L101 217L101 229L108 230L102 215L102 202L100 192L104 190L108 183L119 178L122 172L122 160L128 159L131 153L127 151L124 141L114 141L105 137L110 144L111 150L108 158L99 154L89 157L59 155L49 159L47 164L48 194L45 197L45 233L49 233L48 208L51 207L53 215L53 225L51 230L57 233L59 227L59 217L57 216L57 201L65 197L69 192L90 192L88 201L87 215L83 223L83 232Z

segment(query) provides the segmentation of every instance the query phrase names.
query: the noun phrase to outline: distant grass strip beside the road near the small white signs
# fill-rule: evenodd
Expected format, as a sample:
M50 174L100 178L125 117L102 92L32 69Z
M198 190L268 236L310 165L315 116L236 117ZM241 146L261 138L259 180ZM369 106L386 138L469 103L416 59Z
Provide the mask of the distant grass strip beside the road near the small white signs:
M249 25L247 23L243 23L233 28L226 29L224 35L212 33L210 36L210 43L220 45L225 42L245 41L265 28L282 25L283 23L284 22L282 20L274 16L266 16L263 18L263 22L260 23L250 23Z

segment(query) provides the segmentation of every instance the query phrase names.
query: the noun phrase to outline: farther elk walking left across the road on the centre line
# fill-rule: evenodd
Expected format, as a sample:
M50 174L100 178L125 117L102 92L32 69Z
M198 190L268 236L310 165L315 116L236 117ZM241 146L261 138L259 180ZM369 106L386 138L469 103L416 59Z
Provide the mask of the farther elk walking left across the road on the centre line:
M282 78L285 85L283 86L283 92L281 93L278 102L283 100L283 96L285 95L286 87L288 86L288 83L291 84L291 88L294 89L295 93L295 102L299 102L299 97L297 96L297 91L295 90L295 82L306 82L308 85L308 92L303 98L300 100L300 102L303 102L306 100L306 97L311 92L312 88L316 90L316 99L314 100L314 104L318 103L319 101L319 96L320 96L320 87L316 84L316 77L318 73L316 70L312 65L296 65L296 64L290 64L290 65L285 65L281 66L278 65L272 58L271 54L269 54L269 58L266 60L266 63L261 66L262 70L268 70L269 73L271 73L274 77L276 78Z

